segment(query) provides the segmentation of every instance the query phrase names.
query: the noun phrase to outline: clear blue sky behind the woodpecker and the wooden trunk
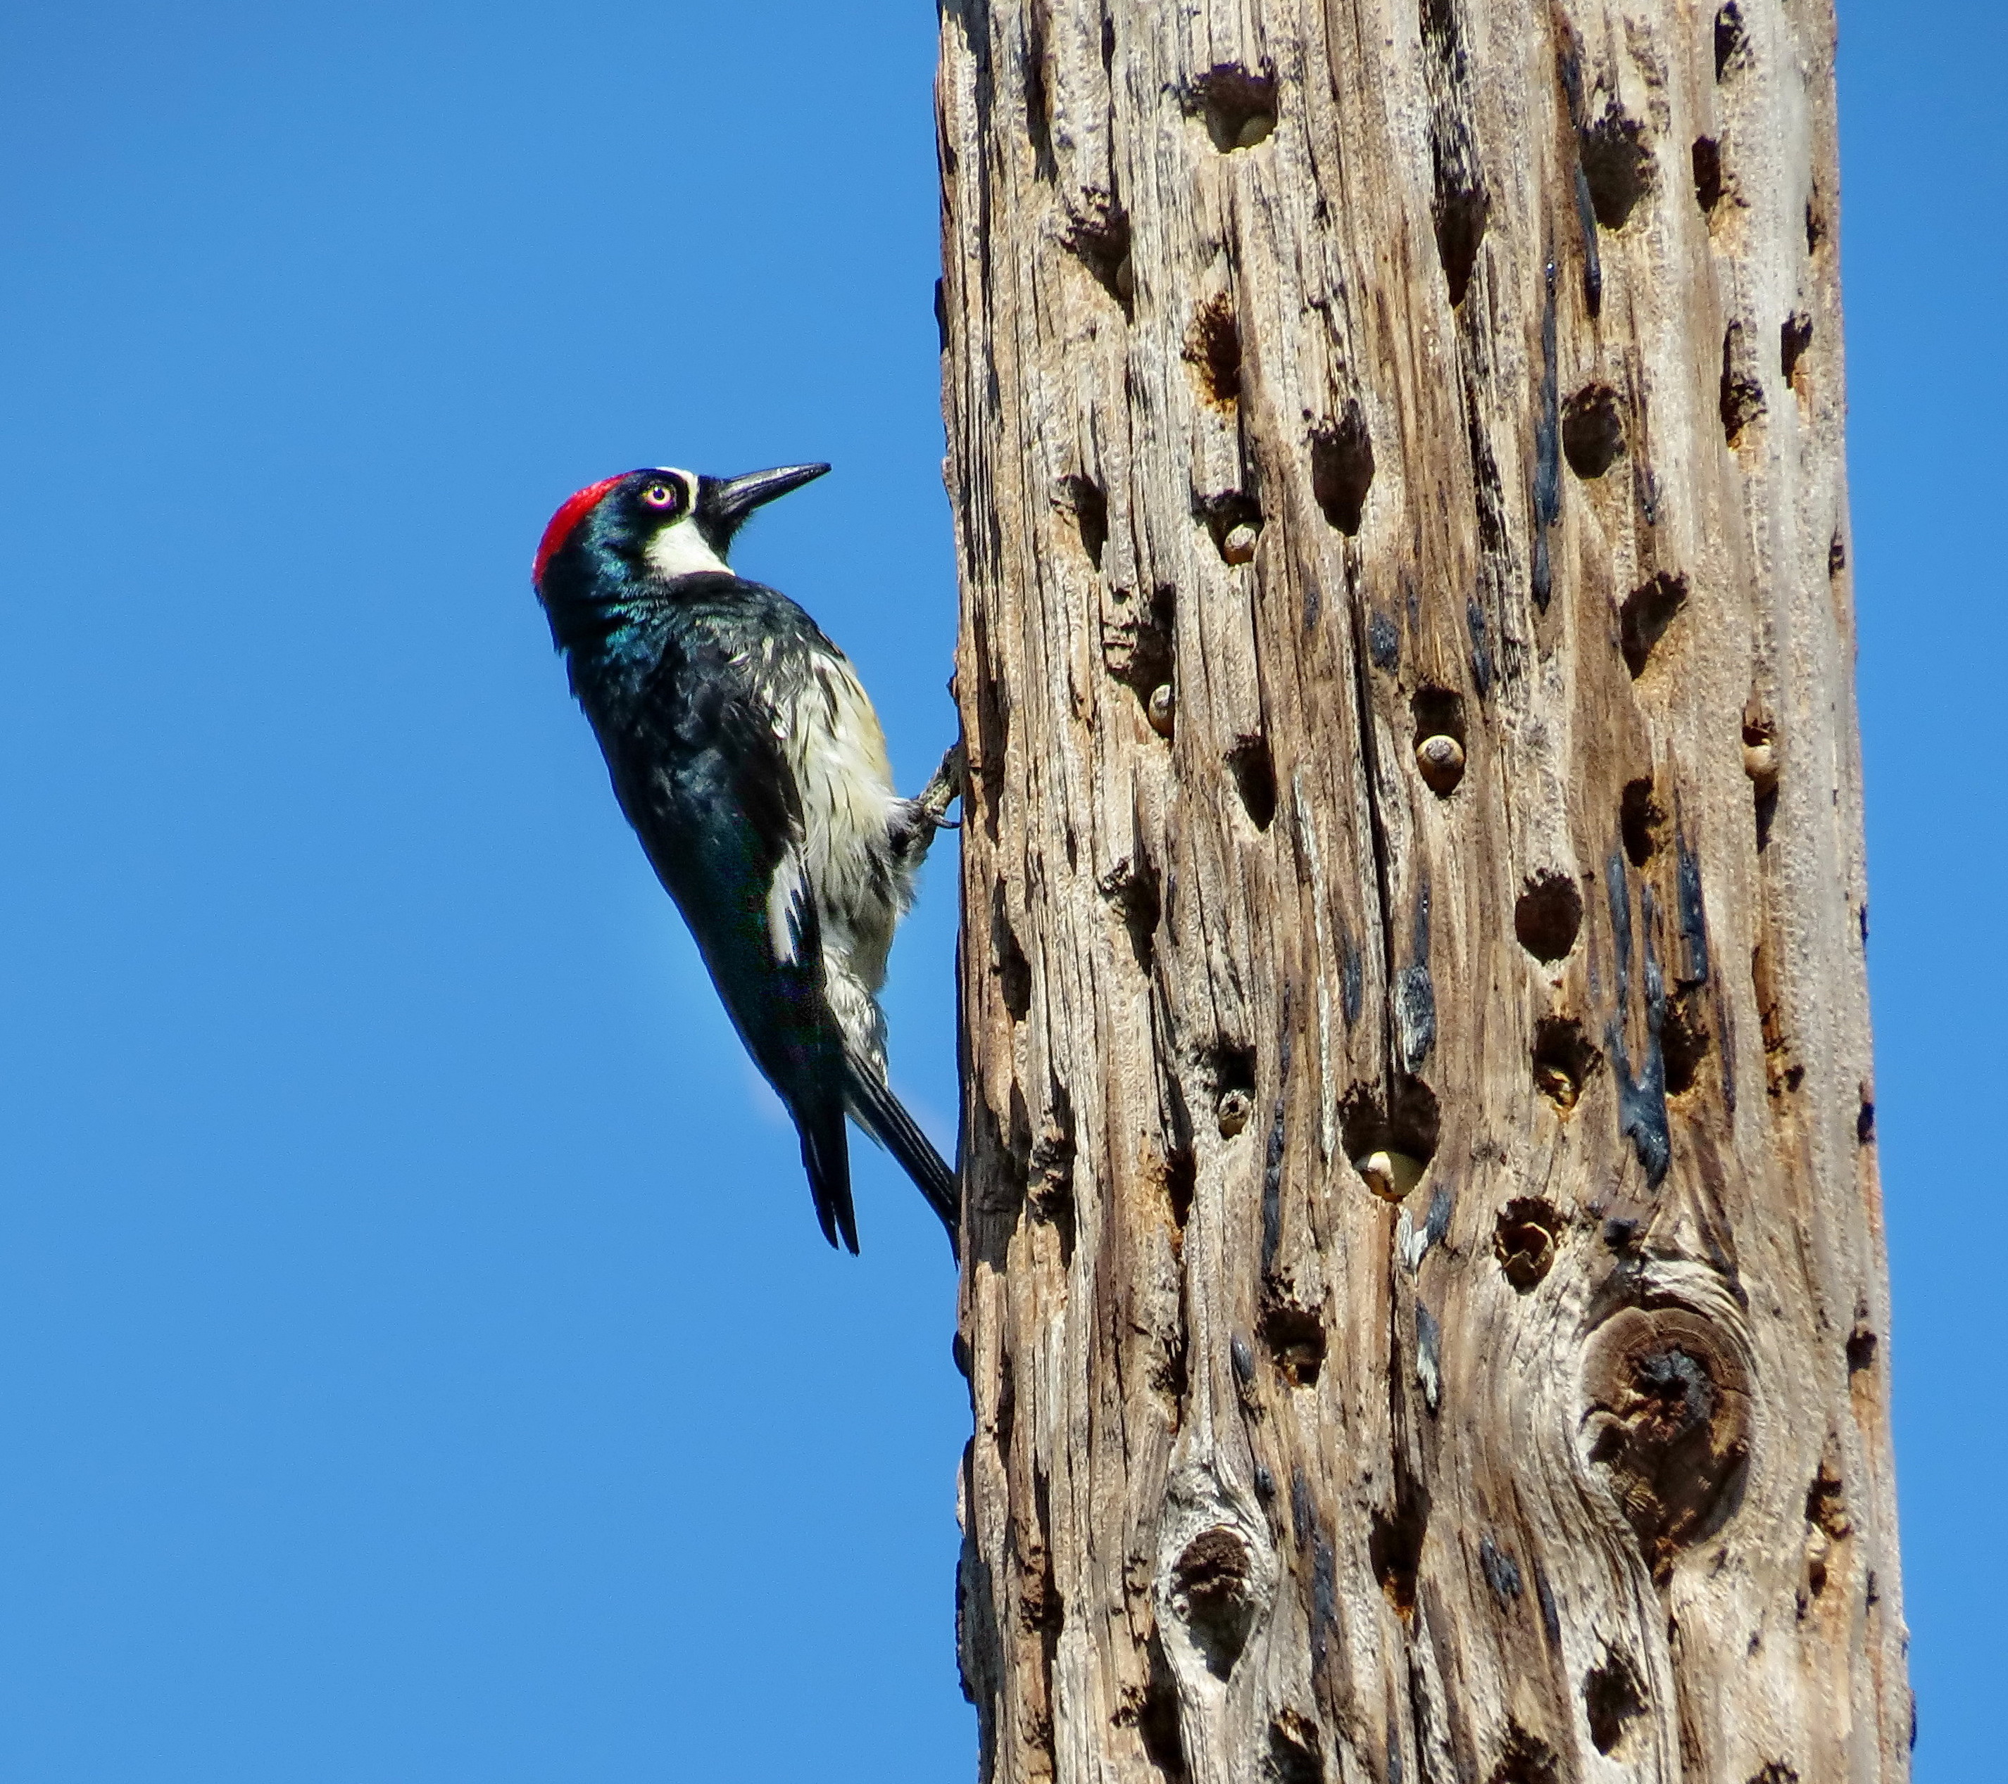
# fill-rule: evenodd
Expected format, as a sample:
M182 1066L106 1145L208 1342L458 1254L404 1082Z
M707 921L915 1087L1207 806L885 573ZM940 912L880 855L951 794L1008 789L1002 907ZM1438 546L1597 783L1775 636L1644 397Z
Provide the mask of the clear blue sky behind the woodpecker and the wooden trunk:
M2008 1565L1992 4L1843 8L1920 1774ZM861 1260L524 582L665 458L950 736L926 6L0 18L0 1776L970 1776L954 1282ZM954 1120L954 851L894 973Z

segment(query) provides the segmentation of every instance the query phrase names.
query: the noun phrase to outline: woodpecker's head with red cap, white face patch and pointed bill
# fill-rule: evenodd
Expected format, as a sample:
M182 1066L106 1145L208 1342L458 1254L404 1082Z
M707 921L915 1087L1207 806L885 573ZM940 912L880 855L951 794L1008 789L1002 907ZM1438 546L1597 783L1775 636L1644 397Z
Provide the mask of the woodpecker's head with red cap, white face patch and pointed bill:
M588 484L550 516L530 574L558 644L570 644L574 632L604 636L608 610L651 582L725 572L733 534L753 510L827 470L779 466L701 478L651 468Z

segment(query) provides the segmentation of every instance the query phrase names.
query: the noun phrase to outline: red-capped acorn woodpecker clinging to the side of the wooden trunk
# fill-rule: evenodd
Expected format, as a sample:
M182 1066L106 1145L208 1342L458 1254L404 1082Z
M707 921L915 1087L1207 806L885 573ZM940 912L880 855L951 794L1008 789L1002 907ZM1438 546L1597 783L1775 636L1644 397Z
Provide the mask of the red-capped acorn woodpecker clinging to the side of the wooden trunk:
M886 1084L877 989L960 755L920 799L894 793L849 658L725 564L755 508L827 470L606 478L550 518L532 582L614 797L795 1120L823 1236L857 1250L849 1112L954 1246L956 1174Z

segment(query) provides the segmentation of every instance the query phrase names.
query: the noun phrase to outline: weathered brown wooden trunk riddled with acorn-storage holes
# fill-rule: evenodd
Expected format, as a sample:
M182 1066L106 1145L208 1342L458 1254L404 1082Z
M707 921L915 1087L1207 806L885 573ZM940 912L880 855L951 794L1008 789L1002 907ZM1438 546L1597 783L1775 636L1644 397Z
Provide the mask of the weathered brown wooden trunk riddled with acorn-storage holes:
M1902 1778L1829 4L942 32L986 1776Z

